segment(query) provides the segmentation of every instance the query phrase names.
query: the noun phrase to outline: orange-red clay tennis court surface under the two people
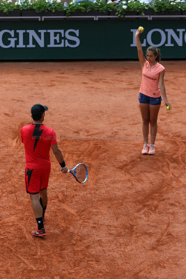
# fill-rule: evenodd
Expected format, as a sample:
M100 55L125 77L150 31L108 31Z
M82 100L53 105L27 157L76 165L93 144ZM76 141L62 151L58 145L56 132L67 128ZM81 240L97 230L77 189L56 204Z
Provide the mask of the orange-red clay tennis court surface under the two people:
M185 278L186 61L162 61L155 156L142 156L138 61L1 63L1 275L40 279ZM45 239L24 187L20 128L47 105L68 168L51 153Z

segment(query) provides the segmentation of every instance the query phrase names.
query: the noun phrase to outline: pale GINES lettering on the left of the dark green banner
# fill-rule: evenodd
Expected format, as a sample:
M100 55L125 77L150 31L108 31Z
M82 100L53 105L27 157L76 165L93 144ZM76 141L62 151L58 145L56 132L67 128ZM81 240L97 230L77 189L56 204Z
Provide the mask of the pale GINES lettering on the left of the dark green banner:
M39 34L38 34L38 33ZM29 35L29 42L27 36ZM49 45L45 44L45 36L49 36ZM0 47L78 47L80 45L79 30L1 30ZM33 41L33 39L35 41ZM16 42L16 43L15 43ZM74 44L72 44L74 42ZM27 43L27 44L26 44Z

